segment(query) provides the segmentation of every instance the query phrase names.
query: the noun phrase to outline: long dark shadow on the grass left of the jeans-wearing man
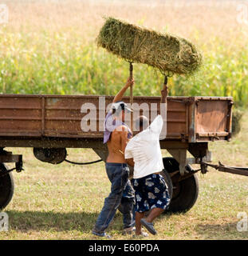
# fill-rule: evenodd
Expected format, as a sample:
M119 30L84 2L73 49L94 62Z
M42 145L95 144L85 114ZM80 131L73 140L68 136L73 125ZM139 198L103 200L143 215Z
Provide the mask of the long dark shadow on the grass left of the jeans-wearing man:
M37 231L91 231L99 213L53 211L6 211L11 230Z

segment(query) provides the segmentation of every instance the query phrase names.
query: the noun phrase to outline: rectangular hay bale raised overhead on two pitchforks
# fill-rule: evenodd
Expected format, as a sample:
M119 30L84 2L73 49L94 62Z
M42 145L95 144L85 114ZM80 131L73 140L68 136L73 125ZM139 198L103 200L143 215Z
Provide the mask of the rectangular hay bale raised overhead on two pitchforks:
M202 63L201 54L191 42L116 18L106 19L96 42L128 62L148 64L163 74L192 74Z

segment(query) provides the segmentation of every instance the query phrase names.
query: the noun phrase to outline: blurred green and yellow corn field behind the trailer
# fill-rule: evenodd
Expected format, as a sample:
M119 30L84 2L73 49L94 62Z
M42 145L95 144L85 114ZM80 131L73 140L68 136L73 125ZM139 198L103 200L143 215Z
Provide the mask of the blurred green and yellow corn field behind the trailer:
M128 78L128 62L95 42L103 16L112 15L178 34L201 51L202 69L189 78L169 78L170 95L233 96L238 106L247 106L248 22L240 15L248 3L175 2L7 1L9 20L0 24L0 93L116 94ZM134 64L134 77L134 95L159 95L158 70Z

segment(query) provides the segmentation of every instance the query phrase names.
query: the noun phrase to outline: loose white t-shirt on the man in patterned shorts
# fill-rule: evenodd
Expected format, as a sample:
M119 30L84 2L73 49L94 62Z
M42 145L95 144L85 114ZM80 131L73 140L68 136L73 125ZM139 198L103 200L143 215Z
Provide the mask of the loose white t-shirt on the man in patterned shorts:
M163 170L163 158L159 144L159 134L163 128L163 118L158 115L146 130L136 134L125 148L125 158L133 158L133 178L143 178Z

